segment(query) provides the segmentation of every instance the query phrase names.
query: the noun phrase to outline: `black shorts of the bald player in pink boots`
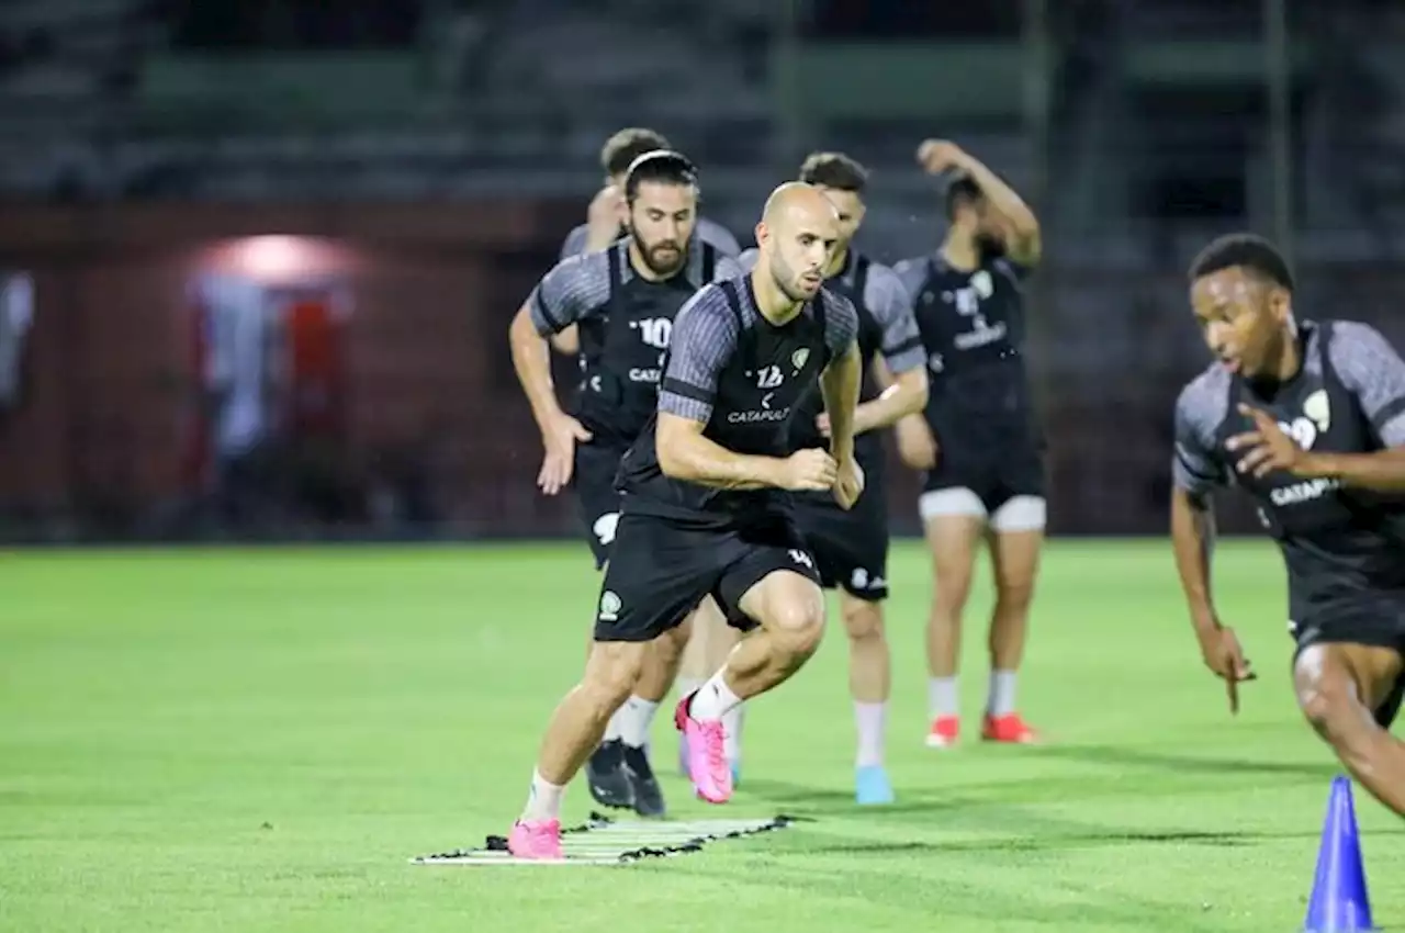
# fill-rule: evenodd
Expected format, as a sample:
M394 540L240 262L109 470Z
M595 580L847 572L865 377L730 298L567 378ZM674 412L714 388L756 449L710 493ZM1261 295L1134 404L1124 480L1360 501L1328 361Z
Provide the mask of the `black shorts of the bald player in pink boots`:
M600 587L596 641L653 641L708 594L733 628L756 628L739 603L776 570L794 570L819 583L815 558L787 514L718 526L627 510Z

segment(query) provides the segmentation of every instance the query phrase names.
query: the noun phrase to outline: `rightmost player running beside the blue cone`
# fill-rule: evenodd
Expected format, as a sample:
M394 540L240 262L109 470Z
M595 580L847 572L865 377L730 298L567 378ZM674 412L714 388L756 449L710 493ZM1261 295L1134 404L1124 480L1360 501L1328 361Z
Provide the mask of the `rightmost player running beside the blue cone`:
M1241 488L1288 578L1293 686L1342 764L1405 816L1405 745L1387 729L1405 691L1405 363L1374 329L1297 320L1293 275L1236 233L1190 267L1215 361L1176 402L1170 530L1205 666L1255 677L1210 592L1210 493Z

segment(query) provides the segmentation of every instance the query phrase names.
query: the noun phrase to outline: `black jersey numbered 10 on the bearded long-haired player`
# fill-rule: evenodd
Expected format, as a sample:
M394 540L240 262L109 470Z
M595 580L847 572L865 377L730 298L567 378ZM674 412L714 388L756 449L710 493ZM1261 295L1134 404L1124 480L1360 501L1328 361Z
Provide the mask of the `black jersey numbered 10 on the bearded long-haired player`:
M736 260L693 237L688 261L655 282L634 271L628 240L568 259L527 299L542 336L579 325L580 392L576 417L603 444L628 445L658 403L673 318L693 294L738 275Z

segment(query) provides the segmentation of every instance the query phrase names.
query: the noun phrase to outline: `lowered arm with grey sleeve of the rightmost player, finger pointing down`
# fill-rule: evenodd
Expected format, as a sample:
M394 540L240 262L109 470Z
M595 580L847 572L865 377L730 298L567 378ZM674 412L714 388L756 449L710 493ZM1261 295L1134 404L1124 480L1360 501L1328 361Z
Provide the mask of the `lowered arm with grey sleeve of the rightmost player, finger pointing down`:
M1207 437L1214 415L1215 393L1200 384L1189 385L1176 402L1176 450L1172 459L1170 540L1176 554L1176 572L1190 611L1190 622L1200 642L1205 666L1222 677L1229 690L1229 708L1238 711L1238 683L1252 680L1253 672L1232 628L1220 621L1211 592L1211 555L1215 520L1210 495L1222 485L1224 465L1214 455Z

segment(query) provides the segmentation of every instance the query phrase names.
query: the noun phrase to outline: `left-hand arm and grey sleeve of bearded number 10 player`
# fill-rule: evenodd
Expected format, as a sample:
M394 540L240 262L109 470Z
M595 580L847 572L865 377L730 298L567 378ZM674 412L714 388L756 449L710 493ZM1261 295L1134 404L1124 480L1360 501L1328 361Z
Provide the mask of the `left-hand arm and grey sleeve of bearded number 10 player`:
M590 433L561 409L551 379L547 340L594 313L610 295L608 257L603 253L565 260L552 268L513 316L509 346L517 381L541 430L545 457L537 485L548 496L570 482L576 441Z

